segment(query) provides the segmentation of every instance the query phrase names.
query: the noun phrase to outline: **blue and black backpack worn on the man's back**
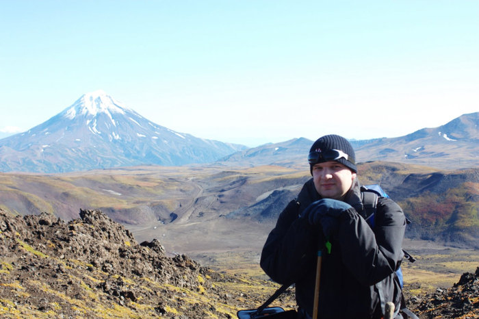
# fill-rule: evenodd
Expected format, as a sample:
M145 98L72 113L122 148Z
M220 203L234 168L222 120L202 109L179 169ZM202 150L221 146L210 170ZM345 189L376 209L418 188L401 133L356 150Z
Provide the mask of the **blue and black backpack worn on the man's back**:
M389 195L381 188L378 184L372 184L367 186L361 186L361 201L363 202L363 218L366 220L367 225L370 225L371 229L374 229L376 221L376 206L378 205L379 196L389 198ZM406 224L411 224L411 220L406 218ZM411 262L416 261L416 259L402 249L404 253L404 258L408 259ZM401 306L400 311L409 318L419 319L413 312L406 307L406 301L404 294L402 293L402 288L404 288L404 279L402 276L401 267L396 270L396 276L398 277L399 283L401 285ZM406 318L407 318L406 317Z

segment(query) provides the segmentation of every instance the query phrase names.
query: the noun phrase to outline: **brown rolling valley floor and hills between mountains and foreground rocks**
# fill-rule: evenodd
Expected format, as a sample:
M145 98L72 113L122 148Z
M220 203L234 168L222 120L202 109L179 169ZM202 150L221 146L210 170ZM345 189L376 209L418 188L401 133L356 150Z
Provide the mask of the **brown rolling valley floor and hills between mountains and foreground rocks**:
M479 249L479 168L391 162L358 168L361 183L379 183L413 221L406 235ZM268 233L310 178L309 170L282 166L8 173L0 174L0 208L64 220L77 218L79 209L101 209L136 238L161 238L170 251L233 250L261 242L258 234Z

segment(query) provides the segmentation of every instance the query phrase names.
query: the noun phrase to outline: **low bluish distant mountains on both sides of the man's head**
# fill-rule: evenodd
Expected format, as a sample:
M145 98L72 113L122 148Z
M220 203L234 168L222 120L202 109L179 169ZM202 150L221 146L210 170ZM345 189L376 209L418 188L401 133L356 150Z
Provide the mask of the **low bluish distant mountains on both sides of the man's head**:
M320 136L318 136L319 138ZM464 114L432 129L398 138L351 140L357 162L387 161L441 169L479 166L479 112ZM298 138L239 151L218 160L225 165L307 166L312 140Z

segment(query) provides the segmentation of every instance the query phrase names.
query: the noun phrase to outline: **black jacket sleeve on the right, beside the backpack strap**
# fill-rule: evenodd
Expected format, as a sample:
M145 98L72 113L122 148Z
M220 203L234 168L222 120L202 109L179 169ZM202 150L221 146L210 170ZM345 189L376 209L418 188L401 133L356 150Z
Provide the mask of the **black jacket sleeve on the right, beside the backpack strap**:
M341 259L358 281L374 285L396 271L403 256L406 230L406 218L398 204L380 199L374 230L352 208L340 218L335 239L341 248Z

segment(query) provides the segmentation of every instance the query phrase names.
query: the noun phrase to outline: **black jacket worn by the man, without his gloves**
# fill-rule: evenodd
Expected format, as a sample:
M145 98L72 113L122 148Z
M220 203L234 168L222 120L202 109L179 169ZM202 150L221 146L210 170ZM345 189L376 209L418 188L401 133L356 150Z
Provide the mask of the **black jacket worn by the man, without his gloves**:
M313 314L315 268L320 235L300 215L321 199L313 180L305 183L298 199L283 210L261 253L261 268L278 283L296 283L298 306ZM374 229L364 218L359 182L346 194L353 208L339 217L339 232L331 253L322 254L319 318L381 318L384 305L400 306L396 276L403 253L406 218L391 199L380 197ZM321 242L321 244L318 244Z

